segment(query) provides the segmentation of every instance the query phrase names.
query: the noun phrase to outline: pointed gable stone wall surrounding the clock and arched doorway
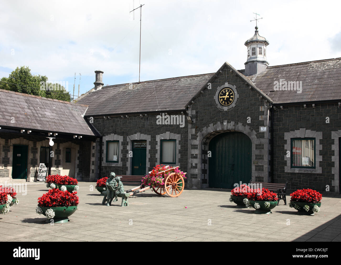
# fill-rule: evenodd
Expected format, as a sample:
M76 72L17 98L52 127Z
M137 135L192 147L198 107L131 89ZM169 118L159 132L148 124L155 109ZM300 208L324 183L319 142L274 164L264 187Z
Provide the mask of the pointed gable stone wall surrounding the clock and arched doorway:
M189 185L193 188L208 187L209 142L214 136L227 131L241 131L249 136L252 142L252 161L255 161L255 164L252 163L252 180L268 182L268 102L228 68L222 69L211 85L211 89L205 89L188 110L193 120L188 136ZM238 94L231 108L221 107L216 100L219 90L225 86L233 87ZM266 132L261 132L261 127L266 127Z

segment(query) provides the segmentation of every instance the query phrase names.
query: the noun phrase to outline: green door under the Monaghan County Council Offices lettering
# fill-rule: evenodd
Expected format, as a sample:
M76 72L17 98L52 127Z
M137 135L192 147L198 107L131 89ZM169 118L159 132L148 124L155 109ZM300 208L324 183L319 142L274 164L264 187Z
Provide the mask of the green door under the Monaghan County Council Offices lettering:
M146 174L147 141L133 141L132 175Z

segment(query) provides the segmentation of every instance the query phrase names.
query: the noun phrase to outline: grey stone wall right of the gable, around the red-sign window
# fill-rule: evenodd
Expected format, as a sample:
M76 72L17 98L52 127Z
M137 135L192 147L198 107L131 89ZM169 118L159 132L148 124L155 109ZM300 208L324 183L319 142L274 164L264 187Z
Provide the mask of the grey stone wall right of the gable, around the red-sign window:
M274 125L274 182L288 182L290 189L320 191L325 191L328 185L329 191L338 192L341 137L341 109L338 104L283 106L274 112ZM286 151L291 149L291 137L287 135L316 138L316 169L291 169L290 158L286 157Z

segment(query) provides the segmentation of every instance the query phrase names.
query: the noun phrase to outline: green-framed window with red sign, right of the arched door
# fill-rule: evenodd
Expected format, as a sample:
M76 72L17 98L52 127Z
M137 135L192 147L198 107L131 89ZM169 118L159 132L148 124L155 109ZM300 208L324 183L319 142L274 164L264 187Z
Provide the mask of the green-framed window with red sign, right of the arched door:
M315 168L315 138L291 139L291 167Z

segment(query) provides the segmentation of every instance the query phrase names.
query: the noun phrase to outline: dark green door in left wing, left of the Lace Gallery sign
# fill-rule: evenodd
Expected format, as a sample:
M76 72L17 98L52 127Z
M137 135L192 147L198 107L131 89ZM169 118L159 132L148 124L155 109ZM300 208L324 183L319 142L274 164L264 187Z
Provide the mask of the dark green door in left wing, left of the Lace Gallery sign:
M27 145L13 145L12 178L26 179Z

